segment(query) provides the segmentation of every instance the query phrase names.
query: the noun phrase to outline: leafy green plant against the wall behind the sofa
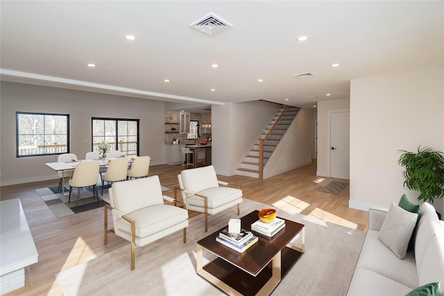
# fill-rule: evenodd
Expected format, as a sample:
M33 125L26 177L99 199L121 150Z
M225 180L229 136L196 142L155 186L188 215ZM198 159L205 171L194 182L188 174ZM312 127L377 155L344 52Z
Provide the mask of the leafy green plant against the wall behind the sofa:
M431 147L420 148L418 153L400 150L398 164L404 166L404 187L420 191L418 200L434 202L444 196L444 153Z

